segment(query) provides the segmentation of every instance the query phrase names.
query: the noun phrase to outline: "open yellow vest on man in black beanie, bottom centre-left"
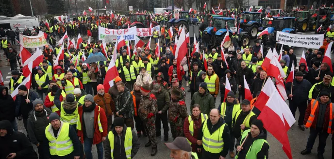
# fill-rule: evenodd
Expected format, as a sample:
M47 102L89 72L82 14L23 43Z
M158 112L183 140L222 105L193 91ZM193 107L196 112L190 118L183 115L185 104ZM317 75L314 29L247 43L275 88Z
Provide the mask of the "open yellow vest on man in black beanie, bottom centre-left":
M109 139L109 144L110 144L110 152L111 152L111 158L114 158L114 138L115 135L113 134L113 131L109 131L108 134L108 139ZM128 127L125 132L125 139L124 140L124 149L125 149L125 154L127 159L131 159L131 151L132 151L132 132L131 132L131 127Z

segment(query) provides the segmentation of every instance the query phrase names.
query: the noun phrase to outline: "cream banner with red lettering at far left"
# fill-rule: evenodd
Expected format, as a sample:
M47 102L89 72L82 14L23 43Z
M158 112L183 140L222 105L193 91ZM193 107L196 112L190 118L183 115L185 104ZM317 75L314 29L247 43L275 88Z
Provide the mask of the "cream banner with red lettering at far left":
M43 34L37 36L26 36L20 34L20 44L25 48L36 48L48 45Z

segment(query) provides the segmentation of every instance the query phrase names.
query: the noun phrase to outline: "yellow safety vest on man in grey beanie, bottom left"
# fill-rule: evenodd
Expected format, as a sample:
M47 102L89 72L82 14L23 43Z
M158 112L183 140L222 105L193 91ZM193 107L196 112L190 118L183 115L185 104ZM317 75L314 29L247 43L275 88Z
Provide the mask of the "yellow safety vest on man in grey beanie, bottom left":
M50 155L66 156L74 151L72 140L68 137L69 124L62 123L59 135L54 137L51 124L45 128L45 137L49 140Z

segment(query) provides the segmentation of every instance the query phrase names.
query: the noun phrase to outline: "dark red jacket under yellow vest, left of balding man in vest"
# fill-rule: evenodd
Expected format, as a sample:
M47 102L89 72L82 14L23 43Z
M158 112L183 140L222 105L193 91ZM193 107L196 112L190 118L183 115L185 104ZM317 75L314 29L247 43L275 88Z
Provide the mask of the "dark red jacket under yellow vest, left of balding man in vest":
M189 120L188 117L184 119L184 125L183 125L183 132L184 136L191 142L191 148L192 152L197 152L197 134L198 134L198 129L202 125L202 118L197 120L194 115L191 115L191 118L194 121L194 136L192 136L189 132Z

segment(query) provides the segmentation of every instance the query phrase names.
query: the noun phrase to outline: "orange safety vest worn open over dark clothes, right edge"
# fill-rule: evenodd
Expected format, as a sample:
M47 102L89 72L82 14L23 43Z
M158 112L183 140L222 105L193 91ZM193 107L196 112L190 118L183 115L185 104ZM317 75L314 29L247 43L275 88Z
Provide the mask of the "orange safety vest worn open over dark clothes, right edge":
M315 117L315 112L317 110L317 107L318 107L318 104L319 102L316 100L316 99L312 99L311 101L311 114L310 116L308 117L308 120L307 120L307 123L305 125L305 127L311 127L312 123L313 123L313 120L314 120L314 117ZM332 121L333 121L333 105L332 103L329 104L330 106L330 115L329 115L329 124L328 124L328 129L327 129L327 133L332 133Z

